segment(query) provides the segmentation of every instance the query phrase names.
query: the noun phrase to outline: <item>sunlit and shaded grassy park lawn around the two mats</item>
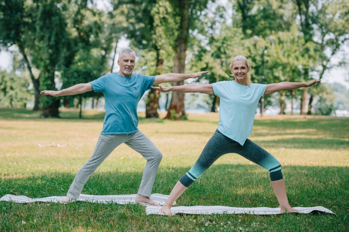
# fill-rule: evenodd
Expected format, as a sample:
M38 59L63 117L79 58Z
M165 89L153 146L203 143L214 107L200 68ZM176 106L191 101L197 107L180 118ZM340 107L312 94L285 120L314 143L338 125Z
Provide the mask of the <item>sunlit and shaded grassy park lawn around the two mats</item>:
M104 112L63 110L60 119L0 109L0 197L65 196L89 159ZM145 119L139 129L163 153L153 193L169 194L199 157L218 114L188 121ZM329 214L146 215L139 204L0 202L0 231L349 231L349 118L265 116L255 119L252 141L282 164L291 206L323 206ZM82 193L137 193L145 160L120 145L90 177ZM278 207L269 173L236 154L218 159L177 200L181 206ZM22 221L25 224L22 224Z

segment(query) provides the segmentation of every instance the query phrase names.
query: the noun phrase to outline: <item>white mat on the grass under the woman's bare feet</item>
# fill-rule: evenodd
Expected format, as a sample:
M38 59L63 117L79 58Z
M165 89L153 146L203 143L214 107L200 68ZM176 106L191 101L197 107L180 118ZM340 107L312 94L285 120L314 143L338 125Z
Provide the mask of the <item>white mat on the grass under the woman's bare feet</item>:
M159 214L161 206L147 206L146 214ZM325 212L334 214L331 210L326 209L322 206L315 207L294 207L301 211L303 214L309 214L311 212ZM174 214L280 214L280 208L268 208L268 207L257 207L257 208L239 208L239 207L228 207L228 206L177 206L171 207L171 211Z

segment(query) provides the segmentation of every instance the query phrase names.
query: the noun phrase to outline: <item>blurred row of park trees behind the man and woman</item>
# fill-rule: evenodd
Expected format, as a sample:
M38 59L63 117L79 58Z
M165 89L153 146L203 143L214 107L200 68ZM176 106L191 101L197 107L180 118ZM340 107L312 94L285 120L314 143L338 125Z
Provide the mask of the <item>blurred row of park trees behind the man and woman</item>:
M3 0L0 48L14 58L0 71L0 106L24 107L32 100L44 117L59 117L61 106L79 107L81 116L87 100L98 108L101 93L54 98L39 92L113 72L121 40L138 55L134 72L146 75L209 71L190 81L232 80L230 61L244 55L253 83L261 83L262 75L265 84L322 78L348 64L342 55L349 45L348 12L346 0ZM335 57L342 58L333 62ZM329 115L348 109L346 91L321 82L267 95L264 107L293 114L299 106L300 114ZM161 98L171 119L186 118L185 102L219 109L213 95L150 90L146 117L159 117Z

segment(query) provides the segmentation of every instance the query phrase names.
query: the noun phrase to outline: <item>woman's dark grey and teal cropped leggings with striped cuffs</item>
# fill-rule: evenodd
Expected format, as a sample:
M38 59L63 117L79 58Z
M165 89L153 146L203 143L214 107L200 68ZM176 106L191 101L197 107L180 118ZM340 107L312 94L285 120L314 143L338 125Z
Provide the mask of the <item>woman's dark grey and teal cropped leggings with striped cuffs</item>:
M269 152L247 139L242 146L240 143L228 138L216 130L211 139L207 142L200 157L194 166L179 180L185 187L189 187L198 179L219 157L228 153L239 154L246 159L267 169L270 173L270 180L283 179L280 162L270 155Z

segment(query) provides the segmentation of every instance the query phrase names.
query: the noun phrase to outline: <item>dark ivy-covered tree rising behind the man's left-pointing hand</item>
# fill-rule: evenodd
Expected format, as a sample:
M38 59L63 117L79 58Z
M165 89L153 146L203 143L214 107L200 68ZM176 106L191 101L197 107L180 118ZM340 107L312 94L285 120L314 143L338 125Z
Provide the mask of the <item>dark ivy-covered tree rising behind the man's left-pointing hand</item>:
M41 89L56 89L55 72L59 70L69 38L63 8L58 1L38 1L31 10L36 10L36 31L30 47L32 63L41 70ZM60 99L42 96L41 114L44 117L59 117Z

